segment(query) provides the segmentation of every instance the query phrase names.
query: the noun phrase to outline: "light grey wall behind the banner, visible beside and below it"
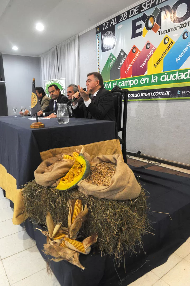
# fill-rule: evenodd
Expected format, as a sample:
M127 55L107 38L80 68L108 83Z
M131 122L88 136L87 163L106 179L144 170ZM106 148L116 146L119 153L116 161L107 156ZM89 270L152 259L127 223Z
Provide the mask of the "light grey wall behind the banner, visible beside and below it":
M80 84L97 71L95 29L79 37ZM190 164L190 100L128 102L126 148Z

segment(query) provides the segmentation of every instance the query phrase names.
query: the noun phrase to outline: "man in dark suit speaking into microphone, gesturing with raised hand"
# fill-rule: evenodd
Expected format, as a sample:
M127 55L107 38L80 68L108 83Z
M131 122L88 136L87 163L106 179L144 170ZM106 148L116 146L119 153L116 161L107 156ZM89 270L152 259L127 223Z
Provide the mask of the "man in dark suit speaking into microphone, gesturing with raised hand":
M104 88L101 74L88 74L86 88L85 92L78 86L79 92L72 95L72 99L76 98L71 105L75 117L116 121L113 97L111 92Z

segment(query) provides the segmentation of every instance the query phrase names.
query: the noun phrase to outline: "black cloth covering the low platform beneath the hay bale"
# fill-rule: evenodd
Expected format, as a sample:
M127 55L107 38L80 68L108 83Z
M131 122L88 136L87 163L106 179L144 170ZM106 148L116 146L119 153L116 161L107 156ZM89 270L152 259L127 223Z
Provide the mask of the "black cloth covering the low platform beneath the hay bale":
M50 267L62 286L110 286L120 285L116 270L123 280L122 285L128 285L165 263L171 253L182 245L190 235L190 178L147 170L143 167L132 167L139 181L146 190L149 205L148 218L154 235L148 233L142 238L144 252L136 249L137 255L125 255L124 263L118 268L114 266L114 257L101 257L97 249L92 249L89 255L79 256L84 271L66 261L59 263L50 261ZM169 213L171 216L163 213ZM38 226L40 227L40 226ZM35 225L26 221L25 228L36 240L41 255L46 237L35 230ZM49 257L51 258L51 257ZM116 267L116 270L115 270Z

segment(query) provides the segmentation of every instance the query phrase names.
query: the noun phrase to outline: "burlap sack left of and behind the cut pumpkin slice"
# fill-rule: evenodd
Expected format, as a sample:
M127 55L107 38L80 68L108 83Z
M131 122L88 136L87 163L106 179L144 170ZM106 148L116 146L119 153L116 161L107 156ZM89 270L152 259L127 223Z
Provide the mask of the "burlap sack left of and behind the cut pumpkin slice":
M75 150L76 152L80 152L79 150ZM86 152L84 152L83 148L83 154L86 157L88 161L90 161L90 155ZM72 152L65 152L64 154L72 155ZM34 177L37 182L37 184L44 186L44 187L56 187L58 186L60 179L66 175L66 173L72 168L74 161L73 160L62 160L62 162L54 164L53 170L51 172L45 173L45 168L52 165L55 162L58 162L60 159L62 159L62 154L57 154L54 157L50 157L46 160L44 160L38 168L34 171Z

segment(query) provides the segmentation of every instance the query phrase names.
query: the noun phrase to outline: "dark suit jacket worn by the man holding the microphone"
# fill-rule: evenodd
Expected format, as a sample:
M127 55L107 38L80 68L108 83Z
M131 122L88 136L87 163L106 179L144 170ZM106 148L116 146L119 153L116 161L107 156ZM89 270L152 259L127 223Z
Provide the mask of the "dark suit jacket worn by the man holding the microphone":
M116 121L114 100L111 92L105 88L100 88L94 101L88 107L84 104L84 100L82 103L79 101L77 108L73 109L73 113L75 117L80 118Z

